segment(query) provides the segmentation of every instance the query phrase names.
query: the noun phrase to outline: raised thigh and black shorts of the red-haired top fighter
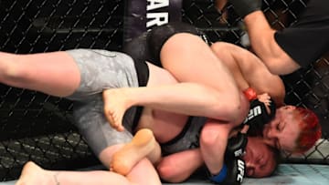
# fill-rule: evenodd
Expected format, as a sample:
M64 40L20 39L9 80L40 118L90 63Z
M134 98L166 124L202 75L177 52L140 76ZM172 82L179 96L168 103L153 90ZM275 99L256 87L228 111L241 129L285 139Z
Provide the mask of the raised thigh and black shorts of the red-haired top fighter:
M201 83L218 91L228 89L236 100L239 95L234 77L209 43L204 33L184 23L155 27L146 42L150 56L157 60L154 64L160 66L161 61L179 82Z

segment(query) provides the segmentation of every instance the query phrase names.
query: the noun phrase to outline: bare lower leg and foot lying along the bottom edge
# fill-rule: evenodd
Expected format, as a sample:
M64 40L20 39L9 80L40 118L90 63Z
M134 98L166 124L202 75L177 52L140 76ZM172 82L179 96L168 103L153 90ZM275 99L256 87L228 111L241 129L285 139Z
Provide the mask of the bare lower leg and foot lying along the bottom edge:
M143 165L143 168L140 167ZM107 185L107 184L154 184L161 185L152 164L137 164L136 170L132 170L126 177L107 170L94 171L58 171L43 170L33 162L27 162L16 185ZM147 173L149 180L143 177Z

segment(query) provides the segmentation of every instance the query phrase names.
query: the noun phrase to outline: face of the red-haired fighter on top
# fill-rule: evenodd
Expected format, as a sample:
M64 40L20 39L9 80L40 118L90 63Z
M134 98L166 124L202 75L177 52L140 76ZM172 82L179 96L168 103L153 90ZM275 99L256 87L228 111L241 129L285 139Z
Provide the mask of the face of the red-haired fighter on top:
M276 149L292 152L296 147L300 128L299 119L294 117L293 106L277 109L275 118L266 124L263 129L264 142Z

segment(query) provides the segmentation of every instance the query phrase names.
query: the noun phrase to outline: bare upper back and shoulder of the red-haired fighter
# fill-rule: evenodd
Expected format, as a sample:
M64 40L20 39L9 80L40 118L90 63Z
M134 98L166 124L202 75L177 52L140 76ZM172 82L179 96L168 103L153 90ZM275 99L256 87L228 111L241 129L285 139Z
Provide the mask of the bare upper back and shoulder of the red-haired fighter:
M272 75L260 58L242 47L224 42L215 43L211 48L228 66L241 90L253 87L257 94L269 93L277 106L283 105L285 89L281 77Z

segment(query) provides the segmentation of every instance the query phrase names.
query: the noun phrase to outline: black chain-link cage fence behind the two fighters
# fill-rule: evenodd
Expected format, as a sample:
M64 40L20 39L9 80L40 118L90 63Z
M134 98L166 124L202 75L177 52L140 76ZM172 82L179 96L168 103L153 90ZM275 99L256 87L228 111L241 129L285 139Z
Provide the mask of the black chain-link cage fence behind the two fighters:
M0 0L0 50L36 53L71 48L121 50L125 5L131 0ZM146 1L146 0L145 0ZM271 26L292 25L305 0L264 0ZM207 33L211 41L245 46L245 32L232 5L222 10L212 0L183 0L182 21ZM306 44L306 43L305 43ZM329 62L324 55L285 82L286 103L313 109L321 119L323 139L302 157L286 162L329 163ZM98 164L72 124L69 100L0 85L0 180L16 179L27 160L51 169Z

